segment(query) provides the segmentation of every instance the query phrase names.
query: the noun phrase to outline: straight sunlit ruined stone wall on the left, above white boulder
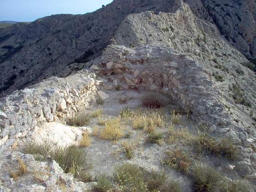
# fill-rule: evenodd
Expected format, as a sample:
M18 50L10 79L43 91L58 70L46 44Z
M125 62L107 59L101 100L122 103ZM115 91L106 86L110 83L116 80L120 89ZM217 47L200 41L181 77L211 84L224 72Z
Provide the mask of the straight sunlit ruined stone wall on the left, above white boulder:
M0 100L0 149L17 145L37 124L62 121L95 101L97 81L86 70L52 77Z

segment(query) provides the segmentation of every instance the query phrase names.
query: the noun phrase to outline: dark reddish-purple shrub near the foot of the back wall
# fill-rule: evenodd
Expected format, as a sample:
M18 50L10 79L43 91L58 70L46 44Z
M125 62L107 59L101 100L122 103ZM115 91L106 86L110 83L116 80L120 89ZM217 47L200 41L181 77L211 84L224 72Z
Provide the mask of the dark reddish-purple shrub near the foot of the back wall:
M150 92L141 98L142 106L148 108L160 108L166 104L164 97L158 93Z

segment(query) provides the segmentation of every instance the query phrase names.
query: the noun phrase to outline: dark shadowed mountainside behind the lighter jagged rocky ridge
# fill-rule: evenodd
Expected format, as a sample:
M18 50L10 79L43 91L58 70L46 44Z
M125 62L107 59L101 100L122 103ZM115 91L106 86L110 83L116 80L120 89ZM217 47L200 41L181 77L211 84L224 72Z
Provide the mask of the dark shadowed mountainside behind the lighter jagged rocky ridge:
M0 31L1 94L50 76L64 77L99 56L124 17L144 11L175 12L182 0L115 0L85 15L53 15ZM196 17L215 24L247 58L255 53L255 2L185 1ZM130 43L131 44L131 43ZM247 64L253 68L253 64Z

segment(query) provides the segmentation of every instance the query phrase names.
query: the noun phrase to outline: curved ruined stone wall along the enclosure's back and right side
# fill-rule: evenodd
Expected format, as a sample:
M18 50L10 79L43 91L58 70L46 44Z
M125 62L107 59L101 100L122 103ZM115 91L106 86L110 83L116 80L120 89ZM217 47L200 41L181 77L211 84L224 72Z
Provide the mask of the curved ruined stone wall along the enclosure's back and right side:
M218 89L204 67L168 47L140 46L133 49L109 46L91 69L107 77L106 89L144 89L163 92L192 119L209 124L230 124L223 115Z

